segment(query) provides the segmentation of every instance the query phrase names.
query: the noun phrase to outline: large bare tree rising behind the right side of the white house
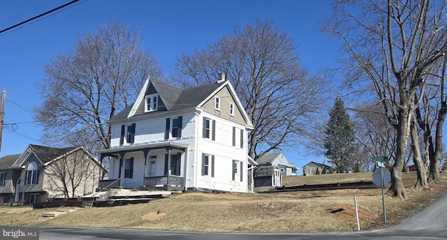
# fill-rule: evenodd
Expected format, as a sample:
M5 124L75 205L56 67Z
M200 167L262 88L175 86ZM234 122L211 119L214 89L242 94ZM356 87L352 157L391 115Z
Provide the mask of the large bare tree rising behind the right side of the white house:
M309 77L300 65L293 39L272 21L235 27L217 43L175 62L173 78L183 86L214 82L225 73L235 87L254 129L249 155L297 147L312 114L323 105L325 80Z

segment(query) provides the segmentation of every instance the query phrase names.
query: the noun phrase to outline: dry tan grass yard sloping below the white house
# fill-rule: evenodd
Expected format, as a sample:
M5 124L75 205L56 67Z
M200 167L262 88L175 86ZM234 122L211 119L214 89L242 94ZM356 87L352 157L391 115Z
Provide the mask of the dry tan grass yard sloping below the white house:
M403 174L412 186L416 174ZM441 174L447 183L447 174ZM285 186L371 181L371 173L285 177ZM332 232L356 231L353 196L358 201L361 230L400 223L446 193L447 186L430 190L406 188L409 200L386 197L383 224L381 190L320 190L285 193L180 193L145 204L85 208L53 219L42 213L55 209L0 207L0 225L116 227L198 232Z

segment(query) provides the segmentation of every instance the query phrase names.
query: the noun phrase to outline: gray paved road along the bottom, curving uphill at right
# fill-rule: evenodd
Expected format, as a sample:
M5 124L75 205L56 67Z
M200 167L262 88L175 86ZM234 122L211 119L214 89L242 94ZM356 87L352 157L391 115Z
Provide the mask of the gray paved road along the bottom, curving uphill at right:
M434 240L447 239L447 195L424 211L404 220L400 225L370 232L329 232L318 234L287 233L287 234L209 234L198 232L159 232L147 230L94 229L73 227L40 227L41 240L55 239L360 239L360 240Z

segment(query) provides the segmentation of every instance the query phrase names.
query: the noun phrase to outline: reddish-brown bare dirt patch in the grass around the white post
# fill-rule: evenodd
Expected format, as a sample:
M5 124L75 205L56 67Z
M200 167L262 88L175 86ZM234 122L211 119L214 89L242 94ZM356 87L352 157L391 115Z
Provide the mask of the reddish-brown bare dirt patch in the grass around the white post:
M358 208L358 219L360 223L360 228L365 227L365 225L372 225L376 222L378 216L369 213L364 209ZM329 214L335 214L337 218L344 220L349 223L349 225L357 225L356 209L349 204L334 204L328 209Z

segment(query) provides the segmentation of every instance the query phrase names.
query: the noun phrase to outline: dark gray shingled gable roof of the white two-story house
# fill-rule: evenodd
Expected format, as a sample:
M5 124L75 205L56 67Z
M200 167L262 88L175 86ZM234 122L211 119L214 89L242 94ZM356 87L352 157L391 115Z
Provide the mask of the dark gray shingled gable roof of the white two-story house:
M247 115L247 112L245 112L244 107L242 106L242 103L240 102L239 98L237 98L235 90L228 81L212 82L210 84L203 84L197 87L179 89L178 87L175 87L166 82L155 80L152 77L147 77L147 80L140 93L138 94L138 98L135 100L135 103L133 103L133 105L130 105L129 107L126 107L122 112L115 114L115 116L109 119L108 123L128 119L131 117L142 116L144 114L156 114L159 112L163 112L160 110L154 112L145 112L144 107L141 107L145 103L145 96L148 95L148 89L152 87L155 89L156 93L158 93L159 101L161 100L163 106L166 107L165 111L186 110L194 107L202 107L207 100L214 96L215 93L217 93L224 87L228 87L228 91L235 99L237 107L242 110L242 116L244 117L244 121L246 121L247 126L251 128L253 126Z

